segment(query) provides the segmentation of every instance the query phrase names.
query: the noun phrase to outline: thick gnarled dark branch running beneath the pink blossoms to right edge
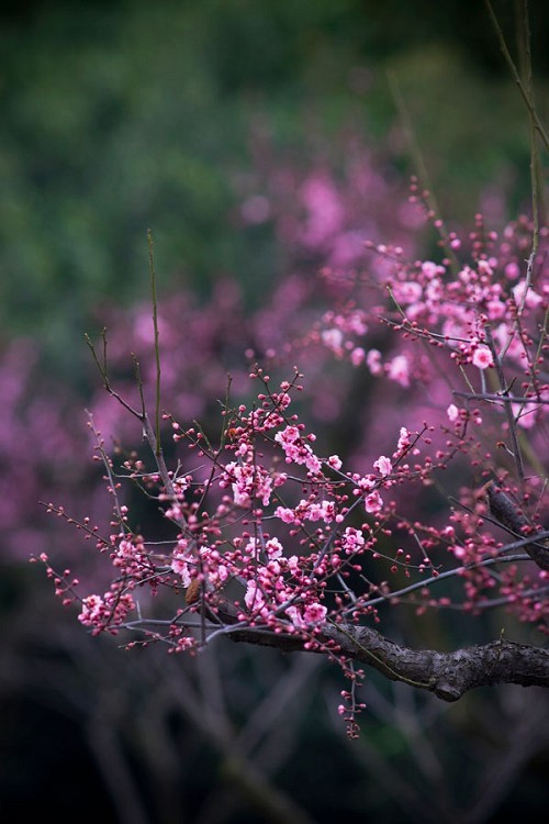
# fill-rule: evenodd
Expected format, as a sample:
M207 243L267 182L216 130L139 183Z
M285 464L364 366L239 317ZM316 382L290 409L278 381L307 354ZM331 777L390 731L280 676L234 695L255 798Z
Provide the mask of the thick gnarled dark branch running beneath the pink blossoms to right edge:
M255 630L238 630L234 641L276 647L284 652L303 649L303 639ZM549 687L549 649L495 641L455 653L401 647L376 630L343 624L328 625L318 637L336 643L339 654L373 667L393 681L429 690L444 701L457 701L475 687L516 683L522 687ZM324 652L320 646L315 652Z

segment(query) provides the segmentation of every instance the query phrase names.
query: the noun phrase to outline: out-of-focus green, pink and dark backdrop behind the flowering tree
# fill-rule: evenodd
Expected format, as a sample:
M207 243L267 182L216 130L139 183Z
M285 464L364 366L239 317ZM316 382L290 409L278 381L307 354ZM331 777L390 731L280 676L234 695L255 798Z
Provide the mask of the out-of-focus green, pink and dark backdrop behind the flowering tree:
M515 48L518 3L494 5ZM544 115L548 21L530 5ZM104 512L86 408L137 441L101 399L83 333L108 325L127 386L130 352L145 349L147 365L148 229L167 391L209 421L244 348L299 333L322 266L359 265L366 237L436 254L403 205L412 174L427 174L458 230L477 211L498 229L528 209L528 124L484 4L43 0L4 2L0 23L2 821L473 824L539 812L541 691L445 706L371 676L349 743L335 714L344 686L322 661L237 645L199 661L124 653L90 638L27 560L46 550L93 574L38 501ZM365 386L341 372L330 407L333 379L318 372L311 414L350 450L338 437ZM414 632L452 648L497 637L497 620Z

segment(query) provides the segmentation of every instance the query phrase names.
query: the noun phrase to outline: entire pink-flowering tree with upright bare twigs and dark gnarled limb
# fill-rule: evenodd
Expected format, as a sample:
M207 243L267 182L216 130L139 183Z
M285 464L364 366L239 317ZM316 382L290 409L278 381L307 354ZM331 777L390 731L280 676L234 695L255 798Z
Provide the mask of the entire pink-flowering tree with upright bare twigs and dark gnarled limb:
M547 145L525 96L535 140ZM500 609L547 633L548 232L536 191L531 220L498 234L479 214L461 237L414 181L411 204L438 231L439 259L376 240L365 265L356 233L340 242L328 182L304 187L310 221L299 242L318 252L329 241L322 278L332 305L292 345L269 346L262 359L248 350L254 390L235 400L229 381L216 437L164 409L149 236L152 397L136 357L130 397L111 378L107 334L101 349L89 341L111 402L138 422L148 454L108 449L90 415L112 519L105 528L47 504L110 570L104 591L81 594L69 569L41 556L80 622L92 634L128 634L128 647L159 642L191 656L220 637L324 655L348 678L339 712L351 737L363 667L445 701L479 686L548 686L547 649L503 630L442 653L396 644L384 628L395 611ZM268 202L243 209L257 221ZM369 420L354 410L361 435L345 433L345 454L324 449L303 412L318 352L371 381ZM126 488L161 512L161 539L139 527Z

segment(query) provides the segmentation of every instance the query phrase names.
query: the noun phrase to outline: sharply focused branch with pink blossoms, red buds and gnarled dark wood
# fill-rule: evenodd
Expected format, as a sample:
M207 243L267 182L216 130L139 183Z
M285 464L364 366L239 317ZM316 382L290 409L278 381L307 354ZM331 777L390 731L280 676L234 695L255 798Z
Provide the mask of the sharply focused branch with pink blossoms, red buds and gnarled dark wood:
M547 322L536 320L540 310L547 316L545 299L533 291L528 300L520 300L517 342L511 345L505 337L505 352L500 350L494 335L488 334L490 314L497 320L505 316L494 305L497 300L517 319L515 296L520 287L513 287L505 298L501 280L494 277L496 260L492 257L486 263L484 255L480 252L477 265L464 267L457 280L446 277L444 265L430 263L414 264L412 279L408 265L395 255L392 279L381 287L396 304L401 320L391 321L384 312L381 323L391 323L406 341L427 342L433 352L432 378L439 376L447 358L470 392L450 383L448 397L462 398L464 405L448 405L438 433L429 423L417 431L401 426L391 455L379 455L371 471L345 470L337 455L318 454L315 434L292 411L303 392L298 369L291 381L272 388L271 378L259 366L249 377L260 391L249 404L231 405L227 399L216 445L200 426L183 427L171 415L163 415L178 449L187 447L186 456L170 470L155 431L147 425L144 404L142 411L131 408L111 386L107 354L102 361L96 356L107 391L142 424L153 466L147 468L143 459L131 456L115 467L90 421L97 458L104 465L114 498L112 532L99 536L99 528L89 523L77 526L109 556L114 578L104 594L80 597L69 570L57 574L42 558L64 602L80 604L80 622L93 634L131 633L135 637L128 646L163 642L173 653L195 654L220 636L307 650L339 664L354 683L360 679L361 671L355 669L359 662L449 701L481 684L546 686L549 658L541 647L500 638L457 653L412 650L369 626L381 623L386 608L412 604L419 614L428 609L480 614L504 605L519 620L547 630L549 533L528 514L533 490L539 489L541 479L531 477L527 482L524 467L528 461L523 452L520 459L514 456L515 466L520 467L516 488L509 486L508 474L502 474L495 485L485 480L489 472L484 470L477 494L469 502L457 501L442 526L407 517L399 502L400 490L429 488L437 475L463 455L472 466L485 455L483 441L493 431L477 408L469 409L469 400L483 401L495 415L511 405L512 415L504 420L515 450L524 450L523 436L531 428L522 420L524 405L535 403L536 415L547 409L540 357L534 360L529 353L533 345L538 353L547 352ZM352 320L355 312L329 315L341 336L343 330L349 335L367 331ZM527 332L531 323L542 330L536 341ZM333 345L335 337L321 335L318 339ZM360 367L355 349L345 345L345 352ZM485 372L504 359L514 369L517 361L526 361L533 389L523 381L518 398L506 383L502 393L486 391ZM365 360L372 363L368 356ZM412 374L410 356L406 364ZM403 381L403 372L386 369L381 358L376 369L390 380ZM471 369L480 379L478 390ZM425 366L423 377L427 388ZM501 422L496 431L501 437ZM438 441L436 448L434 441ZM511 454L511 446L506 453ZM169 548L132 528L121 500L124 483L138 486L156 500L175 530ZM541 508L541 498L537 503ZM67 517L53 504L48 511ZM505 528L513 539L496 541L486 524ZM450 580L462 583L461 600L437 597L436 589ZM150 595L160 591L169 595L163 614L144 615L145 609L155 612ZM354 712L351 708L351 725Z

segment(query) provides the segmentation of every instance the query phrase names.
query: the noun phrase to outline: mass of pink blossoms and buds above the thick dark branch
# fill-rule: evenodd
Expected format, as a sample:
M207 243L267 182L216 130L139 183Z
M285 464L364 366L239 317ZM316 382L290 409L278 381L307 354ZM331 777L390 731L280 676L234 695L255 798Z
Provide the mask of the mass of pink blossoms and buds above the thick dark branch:
M405 244L372 244L376 256L363 269L354 253L347 259L355 268L343 272L340 196L322 176L298 188L306 220L300 232L285 225L288 237L300 248L324 248L332 268L322 282L332 304L288 346L262 345L269 324L277 326L265 311L254 341L278 367L305 358L311 407L296 367L292 380L271 381L256 364L246 385L242 376L236 380L238 402L231 387L217 439L165 415L177 469L153 450L152 466L131 458L116 475L102 446L113 534L100 538L99 527L80 526L110 558L113 583L104 595L80 598L68 576L52 570L59 594L79 600L80 621L93 632L138 628L175 652L255 630L298 635L305 648L337 658L323 631L380 621L383 610L401 603L417 614L446 608L479 614L503 605L546 630L547 572L524 548L525 531L497 532L486 498L496 476L529 530L541 528L549 512L549 280L544 255L528 258L530 224L520 219L500 237L478 216L467 242L456 233L442 238L440 263L408 256ZM270 200L255 200L244 218L273 214ZM294 287L280 294L292 297L303 310L298 315L310 321L306 290ZM236 305L234 294L225 299ZM280 303L288 309L291 301ZM175 396L177 323L167 309ZM233 326L228 332L236 336ZM259 391L249 389L258 385ZM343 402L335 398L338 386L346 389ZM323 420L335 421L333 439L313 425L318 407ZM456 476L448 471L453 466ZM456 478L467 480L456 489ZM161 508L173 530L167 545L130 528L119 489L126 482ZM444 485L451 506L439 492ZM447 579L451 598L441 591ZM135 608L136 588L169 593L159 608L161 632Z

